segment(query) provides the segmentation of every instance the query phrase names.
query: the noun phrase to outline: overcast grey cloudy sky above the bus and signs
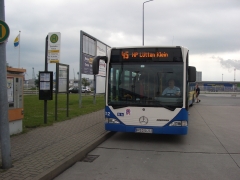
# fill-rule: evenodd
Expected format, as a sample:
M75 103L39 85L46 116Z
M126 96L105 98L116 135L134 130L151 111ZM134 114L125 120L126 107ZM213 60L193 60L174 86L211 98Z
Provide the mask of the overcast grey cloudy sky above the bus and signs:
M61 32L61 63L79 71L80 30L111 47L141 46L145 0L5 0L10 28L7 62L18 67L13 42L21 31L26 79L44 70L45 38ZM181 45L204 81L240 81L240 0L154 0L144 5L144 45ZM55 71L55 64L48 65ZM74 72L73 72L74 69Z

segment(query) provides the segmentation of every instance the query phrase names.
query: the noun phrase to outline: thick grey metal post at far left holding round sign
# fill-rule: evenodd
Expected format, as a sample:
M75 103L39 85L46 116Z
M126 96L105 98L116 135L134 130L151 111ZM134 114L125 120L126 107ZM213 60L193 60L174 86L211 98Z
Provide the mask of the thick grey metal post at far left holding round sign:
M5 21L4 0L0 1L0 19ZM8 122L6 42L0 43L0 139L2 168L12 166L11 143Z

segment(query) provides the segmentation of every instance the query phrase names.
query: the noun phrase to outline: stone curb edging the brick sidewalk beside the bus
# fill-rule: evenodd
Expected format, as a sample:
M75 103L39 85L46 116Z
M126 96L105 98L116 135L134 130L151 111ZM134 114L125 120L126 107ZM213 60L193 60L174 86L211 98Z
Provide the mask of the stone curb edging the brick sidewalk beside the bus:
M60 175L63 171L74 165L77 161L83 159L90 151L94 150L99 144L110 138L114 132L106 132L92 143L87 144L77 152L73 153L71 156L65 158L64 160L58 162L45 172L39 174L34 179L36 180L52 180L53 178Z

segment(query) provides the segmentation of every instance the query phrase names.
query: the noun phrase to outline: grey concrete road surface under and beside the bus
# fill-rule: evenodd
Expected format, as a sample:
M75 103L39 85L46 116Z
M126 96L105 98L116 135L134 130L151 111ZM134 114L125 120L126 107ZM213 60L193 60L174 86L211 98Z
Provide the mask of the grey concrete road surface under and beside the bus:
M188 135L116 133L55 180L240 180L240 95L200 99Z

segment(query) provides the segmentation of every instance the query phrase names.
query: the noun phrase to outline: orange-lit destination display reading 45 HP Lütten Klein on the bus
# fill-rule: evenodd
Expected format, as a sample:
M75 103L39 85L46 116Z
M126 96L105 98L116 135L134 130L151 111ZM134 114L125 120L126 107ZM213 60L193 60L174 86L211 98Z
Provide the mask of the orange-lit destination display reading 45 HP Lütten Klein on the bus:
M111 62L175 61L182 62L180 47L112 49Z

